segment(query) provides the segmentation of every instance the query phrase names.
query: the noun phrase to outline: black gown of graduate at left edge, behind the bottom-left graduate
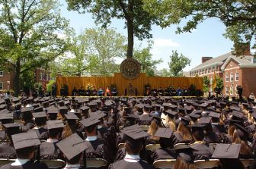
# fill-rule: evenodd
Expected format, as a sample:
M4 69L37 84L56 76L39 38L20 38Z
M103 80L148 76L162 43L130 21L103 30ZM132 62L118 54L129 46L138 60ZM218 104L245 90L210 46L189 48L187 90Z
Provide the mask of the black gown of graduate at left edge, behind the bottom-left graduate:
M16 158L15 149L12 146L8 145L8 143L3 142L0 145L0 158L8 158L8 159Z

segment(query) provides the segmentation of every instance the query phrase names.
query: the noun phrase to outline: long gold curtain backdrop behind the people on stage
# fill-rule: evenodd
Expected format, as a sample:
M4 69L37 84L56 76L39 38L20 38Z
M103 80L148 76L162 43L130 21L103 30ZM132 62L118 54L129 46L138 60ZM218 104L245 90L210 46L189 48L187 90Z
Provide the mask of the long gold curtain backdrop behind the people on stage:
M127 80L122 77L122 74L116 73L114 77L57 77L57 95L60 95L60 88L63 85L69 86L69 95L72 93L72 89L86 89L88 84L95 86L96 89L103 87L106 89L107 86L115 84L117 86L118 95L124 95L125 89L128 88L129 83L133 84L133 87L137 89L138 95L143 95L144 85L150 84L151 87L158 89L162 87L165 89L167 86L174 86L184 88L194 84L197 89L203 89L203 78L202 77L147 77L145 73L139 74L134 80Z

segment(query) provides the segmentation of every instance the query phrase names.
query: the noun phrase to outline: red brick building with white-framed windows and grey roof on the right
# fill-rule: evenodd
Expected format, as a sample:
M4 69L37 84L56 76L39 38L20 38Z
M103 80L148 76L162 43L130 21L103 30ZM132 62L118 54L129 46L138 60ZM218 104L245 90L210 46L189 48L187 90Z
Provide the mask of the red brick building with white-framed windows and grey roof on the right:
M202 57L202 64L190 70L190 77L208 77L212 91L214 72L223 79L223 95L236 96L237 86L242 86L243 95L256 94L256 60L250 53L250 46L244 55L235 56L231 52L216 58Z

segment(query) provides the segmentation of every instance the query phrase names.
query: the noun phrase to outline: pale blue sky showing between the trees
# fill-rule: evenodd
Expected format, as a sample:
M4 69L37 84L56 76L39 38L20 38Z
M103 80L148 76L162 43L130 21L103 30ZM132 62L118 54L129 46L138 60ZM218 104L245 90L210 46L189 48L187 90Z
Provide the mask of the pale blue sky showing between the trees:
M90 13L78 14L77 11L68 11L65 0L60 0L62 6L61 14L69 20L70 26L75 29L76 33L81 33L87 28L100 27L94 24L94 19ZM124 20L112 20L110 28L115 28L118 33L127 36L126 29L124 29ZM226 27L216 18L205 20L197 26L192 33L175 34L177 26L171 25L162 29L158 26L152 26L152 58L162 58L162 64L158 64L157 69L162 70L168 68L168 61L173 50L190 58L190 65L184 68L188 71L201 63L203 56L217 57L219 55L230 52L233 42L222 36L225 33ZM140 42L135 39L135 46L142 43L142 47L146 47L148 39ZM117 59L117 63L122 60Z

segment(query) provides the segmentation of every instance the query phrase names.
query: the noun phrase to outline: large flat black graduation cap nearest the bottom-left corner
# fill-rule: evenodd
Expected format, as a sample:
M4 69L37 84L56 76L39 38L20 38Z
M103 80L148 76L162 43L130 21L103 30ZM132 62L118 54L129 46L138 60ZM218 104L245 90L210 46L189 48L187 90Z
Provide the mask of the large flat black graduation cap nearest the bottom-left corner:
M14 149L24 149L31 146L40 145L37 133L31 131L29 133L18 133L11 136L14 143Z

